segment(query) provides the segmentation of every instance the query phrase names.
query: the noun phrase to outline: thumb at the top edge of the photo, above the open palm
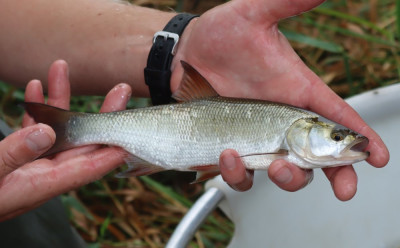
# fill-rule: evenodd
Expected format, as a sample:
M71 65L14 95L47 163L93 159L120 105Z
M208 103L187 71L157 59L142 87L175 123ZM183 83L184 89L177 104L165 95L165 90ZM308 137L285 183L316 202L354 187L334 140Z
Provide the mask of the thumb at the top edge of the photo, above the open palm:
M259 24L276 23L280 19L299 15L311 10L325 0L237 0L234 8L246 17Z

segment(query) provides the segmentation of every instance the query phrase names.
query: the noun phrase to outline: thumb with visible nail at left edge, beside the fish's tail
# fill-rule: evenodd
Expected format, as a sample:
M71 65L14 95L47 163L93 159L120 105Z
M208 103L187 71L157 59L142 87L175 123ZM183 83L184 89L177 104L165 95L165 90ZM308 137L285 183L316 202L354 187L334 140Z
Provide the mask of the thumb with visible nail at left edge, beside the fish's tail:
M18 130L0 142L0 178L47 151L56 135L49 126L36 124Z

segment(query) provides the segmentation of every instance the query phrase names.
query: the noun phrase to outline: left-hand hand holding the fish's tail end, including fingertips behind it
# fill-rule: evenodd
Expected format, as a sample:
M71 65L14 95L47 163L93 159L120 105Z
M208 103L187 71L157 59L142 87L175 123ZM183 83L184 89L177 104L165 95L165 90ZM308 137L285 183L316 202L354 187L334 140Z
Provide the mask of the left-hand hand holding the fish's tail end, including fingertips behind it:
M52 64L48 82L47 104L68 109L70 86L68 66L64 61ZM128 85L117 85L106 96L101 111L124 109L130 94ZM44 103L40 81L28 83L25 100ZM0 142L0 221L97 180L123 163L120 148L99 145L71 149L51 158L34 160L47 151L54 141L55 133L49 126L35 124L25 114L23 128Z

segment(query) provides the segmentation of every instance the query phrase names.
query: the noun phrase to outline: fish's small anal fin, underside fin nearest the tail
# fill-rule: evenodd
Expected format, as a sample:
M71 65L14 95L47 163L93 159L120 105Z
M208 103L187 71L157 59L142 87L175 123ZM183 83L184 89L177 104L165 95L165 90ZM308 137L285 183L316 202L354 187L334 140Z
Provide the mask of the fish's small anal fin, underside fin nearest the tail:
M150 162L138 158L134 155L129 154L125 158L125 162L128 164L128 169L117 173L115 177L126 178L126 177L138 177L154 174L165 170L164 168L151 164Z

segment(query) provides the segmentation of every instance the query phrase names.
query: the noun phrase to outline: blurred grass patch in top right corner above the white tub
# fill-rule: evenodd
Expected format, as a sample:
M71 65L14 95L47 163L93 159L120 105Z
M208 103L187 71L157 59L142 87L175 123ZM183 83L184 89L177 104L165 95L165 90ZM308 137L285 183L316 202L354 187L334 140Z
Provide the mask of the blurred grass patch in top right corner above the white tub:
M281 29L289 30L302 59L339 95L349 97L398 81L395 9L392 1L327 1L284 21Z

